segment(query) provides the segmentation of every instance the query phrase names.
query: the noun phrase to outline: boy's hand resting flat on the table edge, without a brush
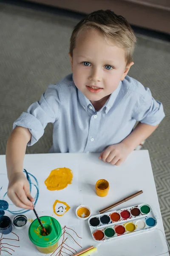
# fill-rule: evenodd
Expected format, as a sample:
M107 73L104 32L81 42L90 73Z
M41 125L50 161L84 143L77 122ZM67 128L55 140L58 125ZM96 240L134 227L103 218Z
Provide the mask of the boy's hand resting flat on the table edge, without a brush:
M106 148L99 156L99 159L102 159L104 162L108 162L111 164L115 164L119 166L123 163L128 154L130 154L132 150L128 148L123 142L115 145L111 145Z

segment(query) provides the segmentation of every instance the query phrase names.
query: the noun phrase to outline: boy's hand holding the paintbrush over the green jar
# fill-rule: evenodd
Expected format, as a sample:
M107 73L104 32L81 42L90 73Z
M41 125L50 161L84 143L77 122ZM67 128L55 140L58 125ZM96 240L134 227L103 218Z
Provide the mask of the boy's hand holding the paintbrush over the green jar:
M29 183L23 172L16 172L10 176L8 184L8 197L20 208L34 209L31 197ZM30 198L31 201L28 200Z

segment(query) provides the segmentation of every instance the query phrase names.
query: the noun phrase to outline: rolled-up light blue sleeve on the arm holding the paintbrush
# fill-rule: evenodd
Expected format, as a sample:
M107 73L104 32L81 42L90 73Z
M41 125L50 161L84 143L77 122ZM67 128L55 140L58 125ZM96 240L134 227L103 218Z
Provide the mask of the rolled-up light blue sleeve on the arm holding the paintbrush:
M34 145L44 134L44 129L48 123L54 123L58 119L59 93L56 85L50 85L42 94L40 101L34 102L26 112L14 122L16 126L28 128L31 133L31 140L28 146Z

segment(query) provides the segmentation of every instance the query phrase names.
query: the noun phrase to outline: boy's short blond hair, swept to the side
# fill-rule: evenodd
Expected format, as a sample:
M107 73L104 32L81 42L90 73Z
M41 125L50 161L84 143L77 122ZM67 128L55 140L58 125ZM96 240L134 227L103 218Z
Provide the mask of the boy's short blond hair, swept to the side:
M113 39L118 47L125 49L126 64L133 61L136 36L124 17L116 15L111 10L99 10L83 18L74 27L70 38L71 57L76 45L76 38L84 29L98 29L106 39Z

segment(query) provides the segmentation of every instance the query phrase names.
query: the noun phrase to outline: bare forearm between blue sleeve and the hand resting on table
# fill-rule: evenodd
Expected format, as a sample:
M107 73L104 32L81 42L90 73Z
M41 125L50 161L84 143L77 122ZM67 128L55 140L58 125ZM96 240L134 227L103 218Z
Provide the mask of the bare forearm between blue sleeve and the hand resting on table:
M159 124L158 124L159 125ZM158 125L147 125L138 123L135 129L121 143L123 143L130 151L133 151L142 141L146 140L158 127Z

